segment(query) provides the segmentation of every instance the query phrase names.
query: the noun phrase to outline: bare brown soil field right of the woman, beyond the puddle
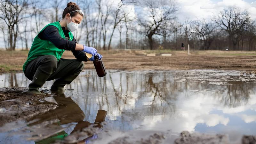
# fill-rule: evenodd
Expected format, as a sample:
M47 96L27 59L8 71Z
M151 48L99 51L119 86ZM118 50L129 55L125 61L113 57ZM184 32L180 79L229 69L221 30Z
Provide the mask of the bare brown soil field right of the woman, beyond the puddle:
M145 56L143 51L102 52L107 69L121 70L188 70L188 69L228 69L254 71L256 55L230 56L192 54L187 52L170 52L172 56ZM63 58L72 58L66 53ZM94 68L92 62L86 62L85 68Z

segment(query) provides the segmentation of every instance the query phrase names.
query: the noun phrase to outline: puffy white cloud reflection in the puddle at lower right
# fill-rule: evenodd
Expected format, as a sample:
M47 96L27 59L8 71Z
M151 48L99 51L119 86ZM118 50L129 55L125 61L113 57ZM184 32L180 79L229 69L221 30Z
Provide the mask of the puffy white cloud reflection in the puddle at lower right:
M191 95L189 100L180 96L176 103L179 108L172 117L168 115L146 116L142 124L147 129L180 132L183 130L194 131L198 123L215 126L217 124L227 125L229 122L228 117L210 114L212 109L219 104L219 100L205 97L204 94Z

